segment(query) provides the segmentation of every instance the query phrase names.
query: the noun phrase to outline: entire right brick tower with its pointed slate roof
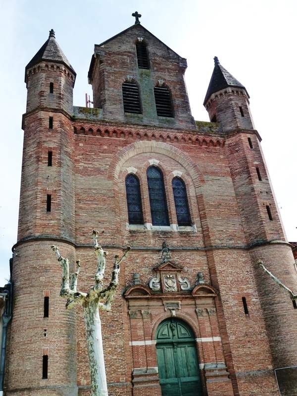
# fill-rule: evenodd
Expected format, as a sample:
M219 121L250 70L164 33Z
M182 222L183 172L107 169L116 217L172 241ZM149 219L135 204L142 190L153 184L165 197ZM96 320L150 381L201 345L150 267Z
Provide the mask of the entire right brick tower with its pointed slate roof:
M245 231L257 294L263 311L273 368L297 365L297 331L292 301L257 264L263 260L277 278L294 290L297 275L286 241L270 178L254 130L246 88L224 69L217 57L204 106L221 125L226 155ZM230 133L233 132L233 133ZM290 335L290 341L285 340ZM290 380L288 380L290 381ZM288 389L290 386L288 385Z

